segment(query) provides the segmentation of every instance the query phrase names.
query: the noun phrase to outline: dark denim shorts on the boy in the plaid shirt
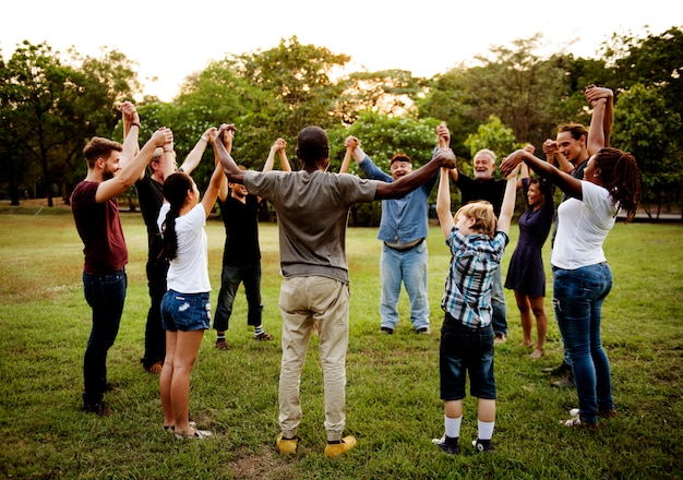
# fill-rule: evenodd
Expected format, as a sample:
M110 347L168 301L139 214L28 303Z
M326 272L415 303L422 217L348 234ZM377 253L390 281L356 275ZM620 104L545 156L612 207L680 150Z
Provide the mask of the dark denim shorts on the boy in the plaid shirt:
M469 374L469 394L495 399L493 377L493 328L470 328L448 313L441 327L439 346L441 399L465 398L465 380Z

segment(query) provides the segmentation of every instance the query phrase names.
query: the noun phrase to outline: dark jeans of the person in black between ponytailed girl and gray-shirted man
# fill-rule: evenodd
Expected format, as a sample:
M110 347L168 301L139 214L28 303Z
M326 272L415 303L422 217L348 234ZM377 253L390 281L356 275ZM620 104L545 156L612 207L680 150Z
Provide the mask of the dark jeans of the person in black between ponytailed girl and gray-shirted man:
M259 326L262 322L263 304L261 303L261 262L249 265L223 265L220 274L220 292L216 305L214 329L225 332L228 329L232 303L240 283L244 284L247 295L247 325Z

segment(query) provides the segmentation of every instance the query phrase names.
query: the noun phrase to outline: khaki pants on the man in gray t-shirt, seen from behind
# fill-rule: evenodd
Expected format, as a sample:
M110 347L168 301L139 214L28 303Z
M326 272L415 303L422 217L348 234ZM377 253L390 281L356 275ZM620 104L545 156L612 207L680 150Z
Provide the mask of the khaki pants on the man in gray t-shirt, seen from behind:
M279 377L279 425L283 435L288 439L296 436L301 423L301 370L316 322L325 392L325 430L328 441L340 440L346 424L349 286L327 277L285 278L279 309L283 315Z

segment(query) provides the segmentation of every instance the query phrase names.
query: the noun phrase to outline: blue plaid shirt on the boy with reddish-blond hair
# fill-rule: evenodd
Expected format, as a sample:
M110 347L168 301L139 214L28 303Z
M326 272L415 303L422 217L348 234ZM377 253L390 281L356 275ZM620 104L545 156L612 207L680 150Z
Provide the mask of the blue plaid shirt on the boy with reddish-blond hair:
M451 249L451 266L446 277L441 308L470 328L491 324L491 281L503 260L508 238L496 231L465 237L453 227L446 245Z

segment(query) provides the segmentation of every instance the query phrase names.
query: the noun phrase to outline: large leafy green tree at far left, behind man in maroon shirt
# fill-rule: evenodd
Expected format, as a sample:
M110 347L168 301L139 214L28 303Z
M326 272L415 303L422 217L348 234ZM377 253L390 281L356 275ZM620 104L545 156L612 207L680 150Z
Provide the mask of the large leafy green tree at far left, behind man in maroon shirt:
M16 196L17 171L40 167L43 193L52 206L56 188L69 199L70 184L84 171L75 166L85 141L104 135L116 124L115 104L132 92L134 75L124 56L111 51L103 59L65 59L47 44L24 41L7 62L0 84L2 163L11 200Z

